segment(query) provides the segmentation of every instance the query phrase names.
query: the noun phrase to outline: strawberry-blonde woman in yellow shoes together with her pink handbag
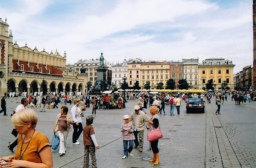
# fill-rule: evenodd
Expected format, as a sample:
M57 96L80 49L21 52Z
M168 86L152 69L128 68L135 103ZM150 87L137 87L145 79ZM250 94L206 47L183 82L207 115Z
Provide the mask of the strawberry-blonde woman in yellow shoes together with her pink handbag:
M148 135L151 135L151 136L148 136L148 141L150 142L150 145L151 145L151 148L152 148L152 151L153 151L153 154L154 154L154 157L153 159L149 160L149 162L155 162L154 165L157 165L160 163L159 161L159 150L158 150L158 139L161 138L161 135L159 136L159 131L160 131L160 134L161 133L161 130L159 129L159 116L157 114L158 112L158 108L156 106L151 106L149 108L149 112L150 114L152 115L152 118L148 120L148 127L149 127L149 133ZM154 134L152 134L153 132L155 132ZM157 135L158 134L158 135ZM162 135L163 137L163 135ZM154 141L151 141L151 140L154 140Z

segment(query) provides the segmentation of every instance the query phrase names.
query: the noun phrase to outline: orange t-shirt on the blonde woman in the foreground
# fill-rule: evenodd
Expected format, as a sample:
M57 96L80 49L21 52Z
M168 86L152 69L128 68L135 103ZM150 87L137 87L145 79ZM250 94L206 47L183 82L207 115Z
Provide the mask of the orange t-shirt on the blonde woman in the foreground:
M18 136L18 147L17 147L17 150L15 151L15 159L16 160L20 160L19 154L20 154L21 145L22 145L22 139L21 139L21 135L19 135ZM28 145L28 142L23 143L22 151L21 151L20 155L22 155L22 153L26 149L27 145ZM39 151L47 145L50 146L49 139L41 132L37 132L35 135L33 135L32 139L28 145L27 150L23 154L22 160L26 160L26 161L34 162L34 163L42 163L41 158L39 156Z

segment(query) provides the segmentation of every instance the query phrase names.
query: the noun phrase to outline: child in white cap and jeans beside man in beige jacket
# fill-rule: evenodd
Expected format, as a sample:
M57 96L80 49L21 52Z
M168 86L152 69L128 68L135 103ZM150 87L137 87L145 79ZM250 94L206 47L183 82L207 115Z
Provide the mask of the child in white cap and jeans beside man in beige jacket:
M133 149L133 140L135 139L133 135L133 126L129 121L129 115L124 115L124 123L121 125L121 132L123 135L123 143L124 143L124 156L122 159L125 159L128 157L128 153L130 156L132 156L132 149ZM128 148L128 142L129 142L129 148Z

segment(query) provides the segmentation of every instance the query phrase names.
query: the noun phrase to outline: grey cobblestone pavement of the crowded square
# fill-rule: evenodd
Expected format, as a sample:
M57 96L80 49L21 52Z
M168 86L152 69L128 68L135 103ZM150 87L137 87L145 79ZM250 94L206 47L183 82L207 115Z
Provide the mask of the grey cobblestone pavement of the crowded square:
M20 98L19 98L20 99ZM19 105L15 98L6 99L7 114L0 114L0 157L12 155L8 150L8 142L15 140L11 135L13 128L10 114ZM143 152L138 149L132 151L133 156L122 159L123 141L120 126L124 122L123 115L130 114L137 100L129 100L125 109L97 110L93 128L100 149L96 150L97 165L100 168L254 168L256 167L256 102L243 106L235 105L234 101L225 101L221 105L221 115L215 115L217 106L214 100L206 103L206 113L186 114L185 102L182 101L181 114L170 116L170 107L165 107L166 115L160 115L160 127L164 137L159 140L160 164L154 166L144 157L153 157L149 150L147 131L144 133ZM61 105L59 104L59 107ZM69 109L72 105L68 104ZM47 109L39 112L36 130L44 133L52 140L53 127L59 109ZM85 115L89 115L92 108L87 108ZM176 114L176 110L174 111ZM148 113L149 117L151 115ZM83 119L83 126L85 119ZM73 131L72 131L73 132ZM80 145L72 145L72 132L68 135L67 151L63 157L59 157L59 149L52 150L54 168L82 168L84 148ZM83 142L82 136L79 142ZM91 167L91 161L90 161Z

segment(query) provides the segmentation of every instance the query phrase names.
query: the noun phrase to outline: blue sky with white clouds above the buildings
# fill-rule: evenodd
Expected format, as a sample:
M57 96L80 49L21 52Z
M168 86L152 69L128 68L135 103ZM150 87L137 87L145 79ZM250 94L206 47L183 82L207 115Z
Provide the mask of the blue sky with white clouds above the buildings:
M218 57L234 74L253 63L252 0L0 0L13 42L63 56L182 61Z

